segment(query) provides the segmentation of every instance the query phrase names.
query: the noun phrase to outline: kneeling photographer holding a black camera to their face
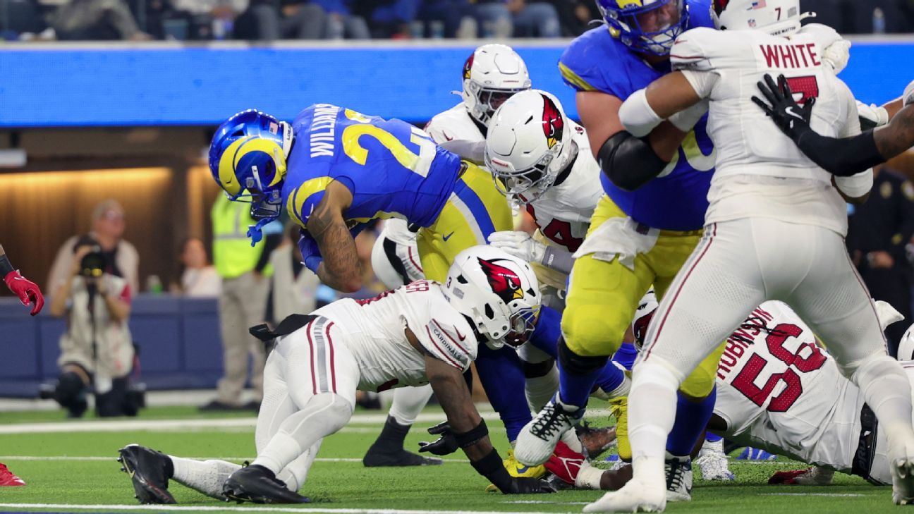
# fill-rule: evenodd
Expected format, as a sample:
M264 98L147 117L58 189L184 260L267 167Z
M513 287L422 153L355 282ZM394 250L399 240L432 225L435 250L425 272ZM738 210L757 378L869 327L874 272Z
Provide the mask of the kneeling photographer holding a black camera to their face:
M73 247L69 276L51 300L51 316L67 316L53 398L72 418L88 408L90 385L99 416L136 414L127 394L133 369L133 339L127 327L131 288L122 277L105 271L107 261L96 241L80 238Z

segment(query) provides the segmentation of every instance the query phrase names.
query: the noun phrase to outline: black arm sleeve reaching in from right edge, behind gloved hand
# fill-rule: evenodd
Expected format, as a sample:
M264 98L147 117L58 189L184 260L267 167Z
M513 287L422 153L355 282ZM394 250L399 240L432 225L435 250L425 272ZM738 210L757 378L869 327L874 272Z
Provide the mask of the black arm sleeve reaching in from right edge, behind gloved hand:
M797 130L793 141L802 153L835 177L850 177L886 162L871 130L844 139L817 134L808 126Z

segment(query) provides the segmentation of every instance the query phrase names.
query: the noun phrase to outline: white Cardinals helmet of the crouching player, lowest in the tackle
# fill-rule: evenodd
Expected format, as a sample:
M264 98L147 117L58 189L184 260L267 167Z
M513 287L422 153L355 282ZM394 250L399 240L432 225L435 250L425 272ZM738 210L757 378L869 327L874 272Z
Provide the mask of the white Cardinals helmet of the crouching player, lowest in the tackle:
M444 294L492 349L520 346L539 316L539 284L530 264L494 246L473 246L454 257Z

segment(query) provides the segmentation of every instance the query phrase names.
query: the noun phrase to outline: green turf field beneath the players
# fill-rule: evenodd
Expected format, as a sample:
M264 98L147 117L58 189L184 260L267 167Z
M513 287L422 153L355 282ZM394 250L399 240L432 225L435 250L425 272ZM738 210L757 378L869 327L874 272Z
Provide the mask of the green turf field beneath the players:
M60 423L59 412L0 413L0 462L22 477L26 487L0 488L0 511L57 512L131 511L130 479L114 461L123 444L139 443L187 457L218 457L242 462L254 454L250 414L214 416L191 408L153 408L140 418ZM417 427L443 419L434 409L423 413ZM324 440L318 462L302 493L314 503L302 507L237 506L204 497L172 482L177 506L152 506L153 511L181 509L215 511L264 509L314 512L448 512L515 511L579 512L597 491L562 491L553 495L504 496L485 493L486 482L466 464L462 454L443 466L365 468L360 459L374 441L384 412L356 412L356 423ZM126 423L126 424L125 424ZM489 423L490 427L499 423ZM492 430L499 450L507 447L504 429ZM422 439L420 430L408 444ZM856 477L836 476L830 487L772 487L766 480L775 471L802 467L781 460L765 464L733 461L736 482L710 483L696 477L693 501L667 506L668 512L888 512L889 487L873 487Z

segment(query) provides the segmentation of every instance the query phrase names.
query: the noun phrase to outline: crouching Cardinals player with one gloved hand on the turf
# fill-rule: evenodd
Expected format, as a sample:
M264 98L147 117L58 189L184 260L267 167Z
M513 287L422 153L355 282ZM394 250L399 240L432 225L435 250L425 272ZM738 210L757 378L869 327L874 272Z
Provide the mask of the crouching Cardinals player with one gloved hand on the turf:
M539 308L529 264L489 246L459 253L444 284L417 281L369 300L342 299L309 316L287 317L264 370L257 458L241 467L196 461L137 444L121 449L142 503L175 503L168 479L214 498L306 503L303 486L321 441L348 423L356 389L430 383L450 424L448 444L505 494L553 492L536 478L508 475L489 441L462 373L479 345L524 340Z

